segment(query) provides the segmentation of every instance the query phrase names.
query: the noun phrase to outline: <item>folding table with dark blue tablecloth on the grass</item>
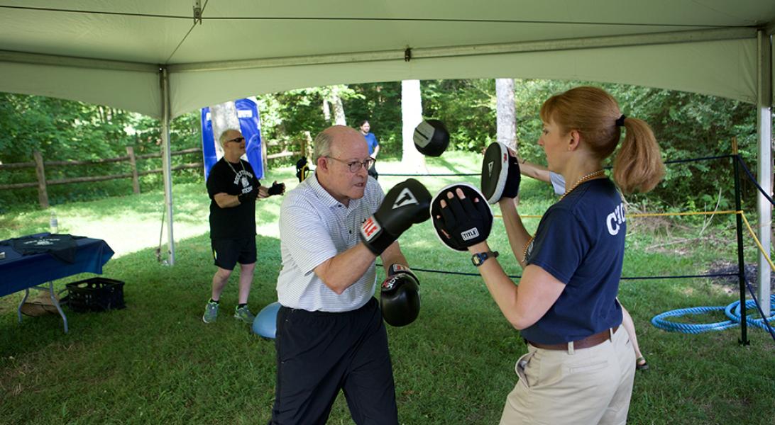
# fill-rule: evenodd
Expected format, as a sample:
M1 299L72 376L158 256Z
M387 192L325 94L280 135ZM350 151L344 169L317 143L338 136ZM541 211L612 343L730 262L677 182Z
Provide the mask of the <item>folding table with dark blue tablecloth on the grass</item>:
M48 233L33 235L35 237L48 236ZM67 263L55 259L49 253L22 255L16 252L12 245L0 242L0 252L5 252L5 257L0 259L0 296L25 290L24 298L19 303L17 314L19 322L22 321L22 304L29 296L29 288L49 290L51 301L57 307L62 320L64 331L67 333L67 317L59 305L59 301L53 292L53 281L78 273L92 272L102 274L102 266L113 256L113 250L102 239L79 238L75 239L75 262ZM42 286L47 283L47 286Z

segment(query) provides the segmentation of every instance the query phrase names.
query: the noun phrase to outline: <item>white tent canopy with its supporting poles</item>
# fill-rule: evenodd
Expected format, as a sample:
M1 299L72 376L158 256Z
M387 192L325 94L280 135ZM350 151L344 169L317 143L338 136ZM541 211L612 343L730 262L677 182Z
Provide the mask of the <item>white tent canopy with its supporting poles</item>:
M169 120L291 88L517 77L713 94L756 105L770 187L773 32L771 0L0 0L0 91L160 118L174 262ZM761 196L759 214L770 246Z

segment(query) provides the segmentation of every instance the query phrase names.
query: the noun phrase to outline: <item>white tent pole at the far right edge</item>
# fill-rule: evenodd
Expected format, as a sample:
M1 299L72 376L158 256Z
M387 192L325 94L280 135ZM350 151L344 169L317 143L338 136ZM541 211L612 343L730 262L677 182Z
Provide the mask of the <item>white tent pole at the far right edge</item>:
M756 135L759 160L757 161L759 184L772 195L773 162L772 162L772 72L770 54L772 53L772 39L765 31L760 30L757 34L758 50L758 100L756 101ZM758 193L756 197L756 209L759 213L759 241L766 249L770 249L772 211L773 206L767 201L763 194ZM770 249L771 251L771 249ZM770 315L770 264L765 255L760 252L758 260L758 278L759 290L757 298L766 316ZM753 296L753 294L751 294ZM741 307L742 308L742 307Z

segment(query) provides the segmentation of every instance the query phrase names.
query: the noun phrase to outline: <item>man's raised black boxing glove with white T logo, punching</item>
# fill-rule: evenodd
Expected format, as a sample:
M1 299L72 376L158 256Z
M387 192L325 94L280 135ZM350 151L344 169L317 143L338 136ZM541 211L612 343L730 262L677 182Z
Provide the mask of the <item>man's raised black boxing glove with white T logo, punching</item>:
M422 183L408 179L387 192L377 212L360 225L360 240L380 255L412 224L428 220L431 194Z

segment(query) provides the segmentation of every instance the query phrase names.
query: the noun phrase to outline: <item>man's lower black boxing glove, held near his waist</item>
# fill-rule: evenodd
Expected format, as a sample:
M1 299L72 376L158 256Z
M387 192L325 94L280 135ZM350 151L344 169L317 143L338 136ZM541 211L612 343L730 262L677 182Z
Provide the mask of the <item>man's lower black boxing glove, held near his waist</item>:
M391 326L411 324L420 314L420 283L407 266L393 264L380 290L382 317Z

